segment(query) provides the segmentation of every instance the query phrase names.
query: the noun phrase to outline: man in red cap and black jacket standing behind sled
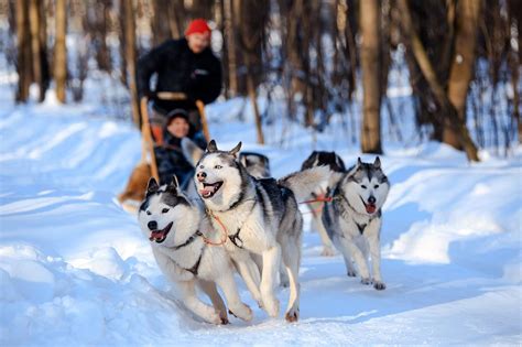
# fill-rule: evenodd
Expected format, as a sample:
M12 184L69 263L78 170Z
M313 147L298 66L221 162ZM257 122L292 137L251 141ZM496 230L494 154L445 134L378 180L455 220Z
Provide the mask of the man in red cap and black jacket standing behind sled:
M151 77L157 74L154 90ZM191 22L185 37L168 40L138 61L137 86L140 98L153 100L150 121L154 141L161 143L166 115L185 109L195 131L202 131L195 101L210 104L221 93L221 63L210 50L210 28L203 19ZM159 91L183 93L184 100L162 100Z

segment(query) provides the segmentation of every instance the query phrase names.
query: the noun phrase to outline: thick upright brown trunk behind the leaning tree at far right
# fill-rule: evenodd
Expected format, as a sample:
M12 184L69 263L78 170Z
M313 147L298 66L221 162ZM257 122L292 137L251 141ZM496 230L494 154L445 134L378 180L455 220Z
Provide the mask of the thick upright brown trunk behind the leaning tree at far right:
M455 54L448 80L448 99L466 123L466 97L474 75L477 36L482 1L461 0L457 4ZM452 127L444 127L443 142L463 149L458 134Z

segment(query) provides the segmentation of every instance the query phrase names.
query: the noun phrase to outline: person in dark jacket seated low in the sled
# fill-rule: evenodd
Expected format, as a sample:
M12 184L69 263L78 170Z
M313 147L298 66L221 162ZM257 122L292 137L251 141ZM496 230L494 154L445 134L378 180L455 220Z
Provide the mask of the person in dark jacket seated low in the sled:
M207 142L200 132L195 132L188 122L188 113L183 109L174 109L166 116L163 128L163 144L154 148L157 173L161 184L167 184L172 176L176 175L180 185L185 187L194 175L194 167L188 163L182 150L182 139L189 138L202 150L206 149Z

